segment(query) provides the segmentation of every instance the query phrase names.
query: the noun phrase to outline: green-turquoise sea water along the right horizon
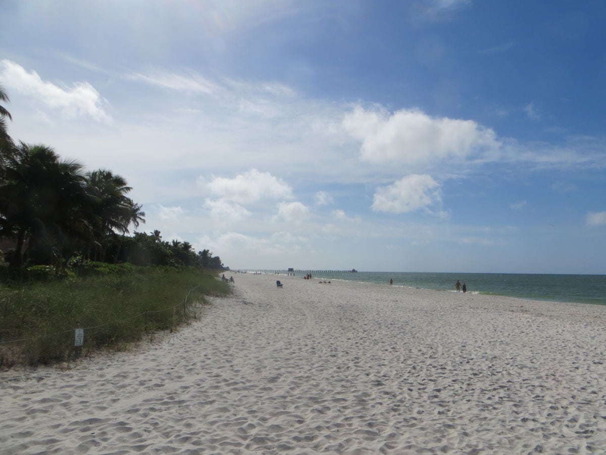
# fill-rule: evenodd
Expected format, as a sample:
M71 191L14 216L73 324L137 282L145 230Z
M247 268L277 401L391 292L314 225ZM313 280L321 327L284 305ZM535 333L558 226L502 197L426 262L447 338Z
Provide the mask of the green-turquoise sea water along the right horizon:
M456 280L467 283L467 292L553 302L606 305L606 275L469 274L358 272L316 273L322 280L358 281L389 286L454 291Z

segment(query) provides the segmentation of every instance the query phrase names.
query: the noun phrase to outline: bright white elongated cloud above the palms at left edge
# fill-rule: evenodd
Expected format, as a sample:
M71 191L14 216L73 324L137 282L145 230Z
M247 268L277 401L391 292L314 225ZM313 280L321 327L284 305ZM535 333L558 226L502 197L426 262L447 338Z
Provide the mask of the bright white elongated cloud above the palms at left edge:
M75 83L71 88L59 87L10 60L0 61L0 80L9 90L32 96L39 106L59 110L68 117L88 115L98 121L112 121L102 107L107 101L87 82Z

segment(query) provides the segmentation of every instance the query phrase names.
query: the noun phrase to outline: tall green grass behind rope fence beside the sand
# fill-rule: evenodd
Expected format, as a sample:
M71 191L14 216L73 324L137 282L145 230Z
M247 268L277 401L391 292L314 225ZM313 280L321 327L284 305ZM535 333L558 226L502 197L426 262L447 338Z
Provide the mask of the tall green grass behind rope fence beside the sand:
M0 285L0 365L49 363L141 340L196 317L204 295L230 292L197 269L145 268L68 281ZM84 345L74 346L75 329Z

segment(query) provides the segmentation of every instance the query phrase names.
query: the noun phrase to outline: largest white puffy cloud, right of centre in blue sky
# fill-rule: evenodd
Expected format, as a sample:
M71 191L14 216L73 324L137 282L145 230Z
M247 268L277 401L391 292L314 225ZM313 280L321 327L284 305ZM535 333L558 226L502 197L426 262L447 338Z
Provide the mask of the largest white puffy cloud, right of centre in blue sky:
M345 115L343 126L361 142L362 159L379 163L464 158L499 147L491 129L472 120L434 118L419 109L388 113L358 106Z

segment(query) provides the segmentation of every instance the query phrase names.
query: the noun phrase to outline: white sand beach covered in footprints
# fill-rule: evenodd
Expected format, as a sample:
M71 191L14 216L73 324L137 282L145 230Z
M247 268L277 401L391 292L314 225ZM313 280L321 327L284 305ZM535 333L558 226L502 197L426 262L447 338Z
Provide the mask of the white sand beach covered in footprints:
M606 450L606 306L235 280L162 340L0 372L0 453Z

